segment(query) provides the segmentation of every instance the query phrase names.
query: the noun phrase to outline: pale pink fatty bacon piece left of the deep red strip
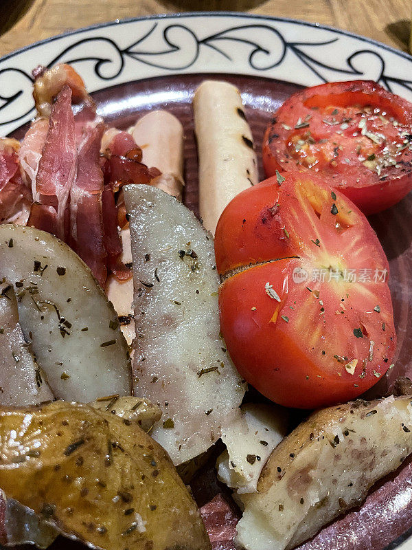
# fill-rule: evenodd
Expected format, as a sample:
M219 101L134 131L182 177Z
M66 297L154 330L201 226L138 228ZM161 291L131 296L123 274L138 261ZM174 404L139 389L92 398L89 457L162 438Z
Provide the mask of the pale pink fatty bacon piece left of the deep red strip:
M27 130L19 150L20 165L27 177L27 183L32 188L34 201L39 199L36 192L36 176L48 131L49 119L37 118Z

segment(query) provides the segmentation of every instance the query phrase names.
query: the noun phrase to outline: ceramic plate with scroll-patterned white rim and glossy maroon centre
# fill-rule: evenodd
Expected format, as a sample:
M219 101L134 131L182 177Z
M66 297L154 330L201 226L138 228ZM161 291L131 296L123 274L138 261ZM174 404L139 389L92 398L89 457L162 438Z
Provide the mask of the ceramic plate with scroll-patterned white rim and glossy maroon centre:
M302 86L361 78L376 80L412 100L412 58L362 36L303 21L244 14L167 15L78 30L2 58L1 134L21 137L34 115L32 69L62 61L82 75L94 92L99 113L119 128L154 107L167 108L181 119L186 135L185 203L195 212L191 100L206 75L225 78L240 88L258 150L271 113ZM397 375L412 372L411 214L409 196L371 217L391 265ZM340 530L330 531L326 545L323 540L316 548L382 550L389 544L387 548L412 549L407 540L412 532L411 469L404 465L393 476L394 483L376 487L365 506L346 516ZM376 519L365 522L369 516Z

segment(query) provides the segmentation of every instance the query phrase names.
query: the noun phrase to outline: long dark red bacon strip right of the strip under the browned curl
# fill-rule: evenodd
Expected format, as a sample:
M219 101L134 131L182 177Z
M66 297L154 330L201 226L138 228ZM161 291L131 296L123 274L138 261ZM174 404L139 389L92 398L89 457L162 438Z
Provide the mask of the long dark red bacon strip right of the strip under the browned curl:
M102 211L104 184L100 168L103 131L104 124L84 131L84 139L78 152L77 177L70 193L69 240L73 250L89 265L102 287L107 276Z

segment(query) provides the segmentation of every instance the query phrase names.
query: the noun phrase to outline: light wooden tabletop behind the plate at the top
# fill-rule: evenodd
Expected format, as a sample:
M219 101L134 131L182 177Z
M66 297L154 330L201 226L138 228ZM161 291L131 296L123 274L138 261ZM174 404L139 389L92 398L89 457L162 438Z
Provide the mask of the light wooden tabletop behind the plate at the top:
M1 0L0 56L66 30L166 12L238 10L350 30L408 51L411 0Z

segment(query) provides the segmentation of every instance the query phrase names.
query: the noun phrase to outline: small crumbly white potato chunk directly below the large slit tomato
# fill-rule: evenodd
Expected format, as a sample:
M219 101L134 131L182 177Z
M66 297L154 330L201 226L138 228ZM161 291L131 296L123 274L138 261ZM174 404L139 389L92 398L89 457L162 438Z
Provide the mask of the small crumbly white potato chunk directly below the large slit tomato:
M238 493L253 493L260 472L288 430L287 409L247 403L242 417L222 430L226 450L218 456L218 478Z

